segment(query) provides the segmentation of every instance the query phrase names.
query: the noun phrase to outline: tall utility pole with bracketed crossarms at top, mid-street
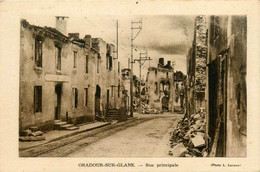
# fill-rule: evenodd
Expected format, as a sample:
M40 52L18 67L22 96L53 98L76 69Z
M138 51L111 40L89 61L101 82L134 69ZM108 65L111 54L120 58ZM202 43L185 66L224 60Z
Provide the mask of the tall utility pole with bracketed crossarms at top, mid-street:
M137 33L134 36L134 30L137 30ZM130 72L130 95L131 95L131 107L130 107L130 116L133 117L133 67L134 67L134 57L133 57L133 49L134 49L134 40L139 35L142 30L142 19L137 22L131 21L131 72Z

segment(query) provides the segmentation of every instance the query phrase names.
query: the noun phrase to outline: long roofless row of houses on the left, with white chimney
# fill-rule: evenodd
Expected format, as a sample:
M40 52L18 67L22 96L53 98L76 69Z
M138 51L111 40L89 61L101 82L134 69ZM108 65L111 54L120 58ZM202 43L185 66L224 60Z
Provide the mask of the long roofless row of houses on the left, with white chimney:
M56 120L93 121L120 106L120 68L114 46L79 33L67 36L67 17L56 28L21 20L20 130L53 129Z

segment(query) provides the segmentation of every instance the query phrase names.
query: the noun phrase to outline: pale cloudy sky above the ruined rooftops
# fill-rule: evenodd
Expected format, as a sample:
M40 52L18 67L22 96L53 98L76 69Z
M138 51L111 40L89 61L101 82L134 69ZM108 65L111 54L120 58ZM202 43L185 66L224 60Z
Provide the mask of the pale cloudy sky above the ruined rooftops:
M163 57L174 63L174 70L186 74L186 55L194 32L194 16L185 15L70 15L67 32L80 33L80 38L90 34L116 45L116 22L118 21L118 54L122 68L128 67L131 53L131 21L142 20L142 30L134 40L134 59L140 53L148 52L152 59L142 67L142 77L146 77L149 66L157 67L158 59ZM24 15L30 24L55 27L54 15ZM137 30L134 30L135 35ZM134 74L139 76L139 63L134 63Z

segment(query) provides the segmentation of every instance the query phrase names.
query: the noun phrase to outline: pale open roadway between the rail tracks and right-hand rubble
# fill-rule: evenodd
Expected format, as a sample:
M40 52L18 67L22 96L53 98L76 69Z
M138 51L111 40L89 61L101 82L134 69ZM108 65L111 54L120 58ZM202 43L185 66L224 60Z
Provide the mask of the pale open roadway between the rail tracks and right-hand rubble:
M155 116L155 115L153 115ZM170 132L182 115L159 114L69 154L70 157L165 157ZM140 118L150 118L140 115Z

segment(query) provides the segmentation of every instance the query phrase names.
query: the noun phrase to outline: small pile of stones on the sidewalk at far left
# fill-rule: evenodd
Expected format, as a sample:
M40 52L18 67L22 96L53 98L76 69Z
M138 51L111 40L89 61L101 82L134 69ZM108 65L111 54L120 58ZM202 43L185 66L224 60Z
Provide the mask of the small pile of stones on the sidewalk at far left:
M27 130L22 130L20 135L19 141L30 142L45 140L43 132L40 131L37 126L30 127Z

